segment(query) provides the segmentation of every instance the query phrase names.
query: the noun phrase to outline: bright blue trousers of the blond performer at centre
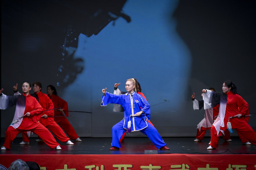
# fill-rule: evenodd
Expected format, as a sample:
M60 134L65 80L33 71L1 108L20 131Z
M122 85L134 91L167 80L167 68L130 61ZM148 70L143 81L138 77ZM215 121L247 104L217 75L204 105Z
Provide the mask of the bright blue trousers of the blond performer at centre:
M120 139L126 129L123 128L124 119L119 123L115 124L112 127L112 145L111 147L115 146L117 148L121 147ZM141 130L141 132L148 136L151 142L157 147L157 149L161 148L162 146L166 146L166 143L163 142L162 137L157 132L156 128L148 123L148 127Z

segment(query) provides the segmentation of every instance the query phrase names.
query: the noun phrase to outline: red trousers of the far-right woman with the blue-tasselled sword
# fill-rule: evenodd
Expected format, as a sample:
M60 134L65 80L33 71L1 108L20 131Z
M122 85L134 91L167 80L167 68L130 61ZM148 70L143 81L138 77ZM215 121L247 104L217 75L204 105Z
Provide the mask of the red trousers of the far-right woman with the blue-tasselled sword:
M243 121L238 128L234 128L241 139L244 142L251 142L252 144L256 145L256 132L252 129L252 127L246 122ZM217 135L217 131L214 126L211 128L211 146L213 148L218 147L219 145L219 138L221 132ZM242 138L241 138L242 137Z

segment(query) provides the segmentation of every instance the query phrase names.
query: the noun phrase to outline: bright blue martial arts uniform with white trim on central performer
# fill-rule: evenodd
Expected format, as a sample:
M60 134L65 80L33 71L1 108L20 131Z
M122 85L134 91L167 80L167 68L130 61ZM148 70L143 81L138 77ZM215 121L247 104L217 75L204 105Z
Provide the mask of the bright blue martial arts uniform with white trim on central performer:
M102 96L101 106L106 106L109 103L120 104L124 109L123 120L112 128L112 147L121 147L120 139L127 130L128 121L131 121L131 131L141 131L148 136L158 149L162 146L166 146L166 143L163 142L156 128L147 122L147 119L150 120L150 105L144 97L136 92L120 95L106 92L106 94ZM140 116L131 116L139 111L143 111Z

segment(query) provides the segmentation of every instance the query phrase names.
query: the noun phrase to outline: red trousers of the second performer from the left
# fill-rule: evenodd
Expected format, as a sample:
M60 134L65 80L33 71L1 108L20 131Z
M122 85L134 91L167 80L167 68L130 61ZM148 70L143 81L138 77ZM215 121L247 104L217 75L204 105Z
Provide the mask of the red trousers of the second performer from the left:
M55 121L50 121L50 124L45 127L48 128L50 132L52 132L61 142L67 142L68 140L70 140ZM36 135L41 138L39 134L36 133ZM29 142L29 136L26 132L22 133L22 139L24 142Z

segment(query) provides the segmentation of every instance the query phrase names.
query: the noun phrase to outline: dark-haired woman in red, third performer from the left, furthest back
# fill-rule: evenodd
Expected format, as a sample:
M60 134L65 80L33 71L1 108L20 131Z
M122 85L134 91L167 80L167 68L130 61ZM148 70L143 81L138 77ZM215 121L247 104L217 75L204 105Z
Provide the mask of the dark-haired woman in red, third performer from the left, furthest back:
M60 108L59 110L54 111L54 121L61 126L70 139L75 140L76 142L81 142L82 140L76 134L75 129L66 118L69 116L68 103L57 96L56 88L53 85L47 86L47 93L54 104L54 108ZM63 111L65 112L66 117L64 116Z

